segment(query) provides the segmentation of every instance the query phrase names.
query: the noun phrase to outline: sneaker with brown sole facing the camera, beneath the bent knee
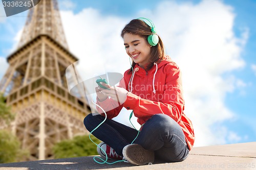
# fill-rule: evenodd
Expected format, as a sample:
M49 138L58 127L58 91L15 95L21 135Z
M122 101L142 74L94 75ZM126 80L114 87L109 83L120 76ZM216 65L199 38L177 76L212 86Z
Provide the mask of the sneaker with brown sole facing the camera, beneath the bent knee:
M144 165L154 162L155 153L145 150L139 144L128 144L123 148L123 157L134 165Z

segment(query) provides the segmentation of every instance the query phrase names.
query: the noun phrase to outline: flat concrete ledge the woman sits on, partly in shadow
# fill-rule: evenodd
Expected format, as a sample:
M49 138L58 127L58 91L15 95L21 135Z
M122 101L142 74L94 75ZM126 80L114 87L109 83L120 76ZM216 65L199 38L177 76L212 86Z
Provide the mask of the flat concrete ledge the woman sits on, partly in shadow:
M111 162L111 161L109 161ZM193 148L183 162L135 166L130 163L98 164L93 156L0 164L0 170L30 169L255 169L256 142Z

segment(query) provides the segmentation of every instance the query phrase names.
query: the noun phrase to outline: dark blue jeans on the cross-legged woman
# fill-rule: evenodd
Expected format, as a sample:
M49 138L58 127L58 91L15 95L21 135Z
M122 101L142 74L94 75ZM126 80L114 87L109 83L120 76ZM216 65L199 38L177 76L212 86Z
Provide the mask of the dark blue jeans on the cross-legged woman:
M89 114L84 118L83 123L91 132L104 118L100 114ZM122 156L123 148L131 144L138 131L107 118L92 134ZM164 162L183 161L189 152L181 127L173 118L165 114L155 114L148 119L134 143L140 144L146 150L154 151L155 160Z

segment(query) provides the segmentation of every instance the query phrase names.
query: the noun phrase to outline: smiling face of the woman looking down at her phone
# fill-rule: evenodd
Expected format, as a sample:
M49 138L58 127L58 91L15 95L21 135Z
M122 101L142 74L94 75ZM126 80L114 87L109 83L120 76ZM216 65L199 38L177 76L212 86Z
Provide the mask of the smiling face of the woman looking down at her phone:
M129 33L123 35L123 42L126 53L135 63L145 68L150 60L150 44L143 37Z

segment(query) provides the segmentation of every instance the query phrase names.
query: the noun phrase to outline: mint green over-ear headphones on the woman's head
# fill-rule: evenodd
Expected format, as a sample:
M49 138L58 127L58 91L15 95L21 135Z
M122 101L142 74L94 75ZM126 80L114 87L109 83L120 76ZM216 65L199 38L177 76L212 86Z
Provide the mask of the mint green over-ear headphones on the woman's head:
M147 42L151 46L156 46L158 41L159 41L159 37L158 37L158 35L156 33L156 28L155 28L155 25L152 22L152 20L147 19L147 18L143 18L143 17L139 17L137 19L143 20L148 26L151 27L152 34L147 37Z

